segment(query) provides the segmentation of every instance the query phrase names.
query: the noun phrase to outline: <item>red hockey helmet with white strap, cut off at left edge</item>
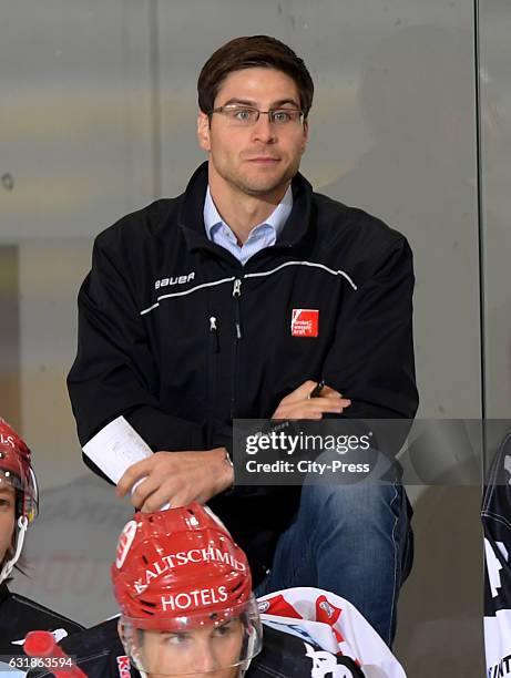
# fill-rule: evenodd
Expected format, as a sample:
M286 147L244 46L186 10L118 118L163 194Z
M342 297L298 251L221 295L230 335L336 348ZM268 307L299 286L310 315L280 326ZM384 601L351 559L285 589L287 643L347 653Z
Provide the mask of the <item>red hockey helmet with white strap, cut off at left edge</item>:
M0 418L0 486L16 490L17 528L13 555L4 561L0 582L6 579L21 554L27 525L38 515L38 483L32 471L31 452L18 433Z

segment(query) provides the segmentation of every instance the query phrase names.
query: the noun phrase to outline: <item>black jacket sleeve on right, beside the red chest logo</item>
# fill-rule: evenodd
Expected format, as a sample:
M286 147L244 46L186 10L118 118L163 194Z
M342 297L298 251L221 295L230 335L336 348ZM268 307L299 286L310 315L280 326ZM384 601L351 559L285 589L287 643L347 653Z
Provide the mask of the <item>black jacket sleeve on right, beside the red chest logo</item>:
M346 419L412 420L419 398L412 335L415 278L406 238L400 236L364 268L337 319L323 378L351 399L343 414ZM402 444L409 425L396 423L394 448Z

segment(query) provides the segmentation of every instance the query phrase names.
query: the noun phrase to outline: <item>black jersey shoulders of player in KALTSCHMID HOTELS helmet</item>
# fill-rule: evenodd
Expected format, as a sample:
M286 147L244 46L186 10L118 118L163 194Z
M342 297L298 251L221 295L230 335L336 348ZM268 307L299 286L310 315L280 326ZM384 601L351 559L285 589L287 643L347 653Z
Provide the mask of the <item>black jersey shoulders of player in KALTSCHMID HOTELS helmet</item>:
M62 644L70 657L89 678L140 678L139 671L130 666L117 634L117 619L110 619L84 633L73 636ZM326 656L329 657L326 657ZM321 660L329 659L334 665L344 667L343 676L364 678L364 674L349 657L337 656L321 650L310 639L307 645L300 638L264 627L263 649L255 657L245 674L245 678L311 678L311 676L331 676L330 670L324 674L313 672ZM51 676L48 671L33 671L29 676Z

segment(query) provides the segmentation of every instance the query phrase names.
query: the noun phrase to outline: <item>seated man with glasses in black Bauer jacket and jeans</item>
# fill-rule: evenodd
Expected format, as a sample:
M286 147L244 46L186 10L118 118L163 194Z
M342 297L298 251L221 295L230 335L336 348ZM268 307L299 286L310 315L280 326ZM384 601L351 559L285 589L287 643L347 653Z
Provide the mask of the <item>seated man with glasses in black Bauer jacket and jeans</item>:
M410 248L298 173L313 92L303 60L274 38L238 38L207 60L207 162L181 196L96 238L68 384L82 444L121 415L154 452L125 471L120 495L142 511L208 502L259 595L331 590L390 643L410 566L399 473L300 491L235 486L231 463L235 419L417 409Z

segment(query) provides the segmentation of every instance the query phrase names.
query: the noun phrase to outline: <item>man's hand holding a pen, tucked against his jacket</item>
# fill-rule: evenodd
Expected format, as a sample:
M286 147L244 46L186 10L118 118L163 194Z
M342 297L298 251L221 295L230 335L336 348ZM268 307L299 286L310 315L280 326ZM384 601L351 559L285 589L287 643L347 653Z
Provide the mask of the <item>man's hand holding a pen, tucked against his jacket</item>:
M348 398L327 386L323 387L318 398L310 398L316 386L310 379L305 381L280 400L272 419L321 419L326 412L340 414L351 404Z

